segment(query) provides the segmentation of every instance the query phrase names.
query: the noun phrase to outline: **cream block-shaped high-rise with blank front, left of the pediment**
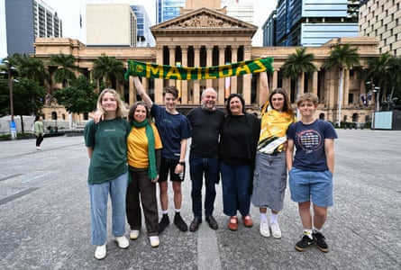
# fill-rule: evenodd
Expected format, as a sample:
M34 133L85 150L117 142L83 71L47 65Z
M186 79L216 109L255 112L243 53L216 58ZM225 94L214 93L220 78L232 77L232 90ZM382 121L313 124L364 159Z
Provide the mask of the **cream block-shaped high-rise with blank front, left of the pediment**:
M136 47L130 4L87 4L87 46Z

